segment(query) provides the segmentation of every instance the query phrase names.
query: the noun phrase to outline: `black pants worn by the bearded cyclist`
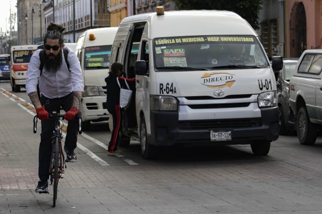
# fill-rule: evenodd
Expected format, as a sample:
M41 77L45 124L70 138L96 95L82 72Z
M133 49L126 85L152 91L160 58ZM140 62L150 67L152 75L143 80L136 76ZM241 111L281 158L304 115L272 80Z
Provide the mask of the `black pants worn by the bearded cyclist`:
M67 112L70 110L73 102L72 93L66 97L49 99L47 97L40 97L41 105L45 106L46 111L52 113L60 110L60 107ZM41 120L41 134L40 134L40 145L39 145L39 167L38 176L41 180L46 180L49 177L48 169L50 164L50 156L52 149L52 134L55 127L54 118L48 120ZM78 120L68 121L67 134L65 139L65 146L68 150L76 148L78 134Z

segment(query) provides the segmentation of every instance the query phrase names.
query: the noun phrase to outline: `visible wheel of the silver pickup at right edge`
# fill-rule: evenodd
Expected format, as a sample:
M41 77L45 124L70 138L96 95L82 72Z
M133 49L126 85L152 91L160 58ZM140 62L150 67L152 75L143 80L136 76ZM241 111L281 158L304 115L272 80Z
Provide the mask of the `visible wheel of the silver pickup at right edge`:
M311 123L304 106L300 108L296 116L297 138L302 145L313 145L316 140L316 125Z

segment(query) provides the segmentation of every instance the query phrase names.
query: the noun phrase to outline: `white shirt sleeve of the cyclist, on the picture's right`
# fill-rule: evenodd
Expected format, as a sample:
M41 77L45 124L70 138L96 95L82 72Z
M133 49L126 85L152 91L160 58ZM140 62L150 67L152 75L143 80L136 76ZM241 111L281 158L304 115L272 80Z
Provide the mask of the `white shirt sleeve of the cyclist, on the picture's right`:
M84 80L82 74L81 63L79 63L76 54L69 49L68 63L70 70L71 82L74 87L73 91L84 91Z

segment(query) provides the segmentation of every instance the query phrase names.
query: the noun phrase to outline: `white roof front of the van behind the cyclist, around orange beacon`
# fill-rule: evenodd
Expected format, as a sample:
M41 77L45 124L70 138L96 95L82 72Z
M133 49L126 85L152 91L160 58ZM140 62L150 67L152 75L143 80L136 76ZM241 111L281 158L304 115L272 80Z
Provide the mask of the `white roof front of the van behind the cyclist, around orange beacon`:
M81 36L79 36L78 39L84 36L83 47L112 45L117 30L118 27L89 29L85 31ZM89 40L90 34L94 34L95 40ZM78 49L78 47L76 49Z

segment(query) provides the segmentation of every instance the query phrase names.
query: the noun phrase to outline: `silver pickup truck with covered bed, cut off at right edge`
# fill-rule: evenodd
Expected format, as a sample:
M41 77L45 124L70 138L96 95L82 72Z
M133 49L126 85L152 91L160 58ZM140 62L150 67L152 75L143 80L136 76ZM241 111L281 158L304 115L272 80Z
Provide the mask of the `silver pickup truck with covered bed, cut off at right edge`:
M289 102L301 144L313 145L322 124L322 50L306 50L290 79Z

